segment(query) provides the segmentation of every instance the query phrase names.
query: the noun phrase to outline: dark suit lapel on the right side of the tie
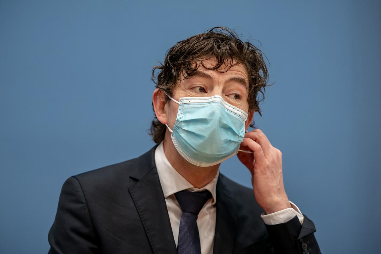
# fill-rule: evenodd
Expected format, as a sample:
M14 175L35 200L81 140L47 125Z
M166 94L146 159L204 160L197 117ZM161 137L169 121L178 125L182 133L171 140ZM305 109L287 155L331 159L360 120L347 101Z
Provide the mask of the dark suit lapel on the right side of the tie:
M213 254L233 253L236 216L234 199L227 192L223 176L219 174L216 186L216 230L213 245Z

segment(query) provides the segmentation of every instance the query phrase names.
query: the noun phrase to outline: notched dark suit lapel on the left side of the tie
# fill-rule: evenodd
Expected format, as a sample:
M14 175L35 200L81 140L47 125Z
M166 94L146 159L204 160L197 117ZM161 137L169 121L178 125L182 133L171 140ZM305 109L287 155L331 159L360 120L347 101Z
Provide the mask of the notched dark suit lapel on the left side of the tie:
M138 182L128 190L154 253L176 254L176 243L155 166L155 148L136 160L130 178Z

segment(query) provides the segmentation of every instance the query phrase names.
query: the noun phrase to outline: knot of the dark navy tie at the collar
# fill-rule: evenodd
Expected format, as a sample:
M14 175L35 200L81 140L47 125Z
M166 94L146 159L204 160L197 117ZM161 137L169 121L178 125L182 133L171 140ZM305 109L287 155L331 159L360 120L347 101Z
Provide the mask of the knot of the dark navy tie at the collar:
M208 190L202 192L190 192L188 190L182 190L174 193L177 201L180 204L182 212L192 212L196 215L199 214L204 204L212 197Z

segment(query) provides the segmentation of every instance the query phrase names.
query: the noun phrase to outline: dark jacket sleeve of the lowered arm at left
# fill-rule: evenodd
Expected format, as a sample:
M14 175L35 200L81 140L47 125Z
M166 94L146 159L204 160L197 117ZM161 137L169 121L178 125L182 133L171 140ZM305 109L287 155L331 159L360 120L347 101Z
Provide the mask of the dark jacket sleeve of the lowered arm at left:
M48 254L100 252L85 196L74 176L69 177L62 185L48 241L50 244Z

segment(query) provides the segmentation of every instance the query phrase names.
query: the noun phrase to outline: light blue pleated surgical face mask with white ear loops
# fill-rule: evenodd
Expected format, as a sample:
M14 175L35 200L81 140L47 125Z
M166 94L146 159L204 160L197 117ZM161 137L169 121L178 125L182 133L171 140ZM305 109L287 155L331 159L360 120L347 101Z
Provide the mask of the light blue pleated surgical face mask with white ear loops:
M167 94L168 96L168 94ZM176 150L190 163L213 166L237 154L245 136L247 113L221 96L181 97L171 138Z

